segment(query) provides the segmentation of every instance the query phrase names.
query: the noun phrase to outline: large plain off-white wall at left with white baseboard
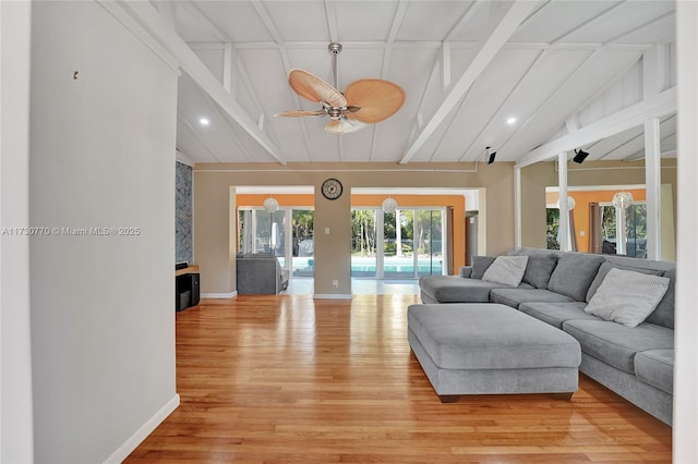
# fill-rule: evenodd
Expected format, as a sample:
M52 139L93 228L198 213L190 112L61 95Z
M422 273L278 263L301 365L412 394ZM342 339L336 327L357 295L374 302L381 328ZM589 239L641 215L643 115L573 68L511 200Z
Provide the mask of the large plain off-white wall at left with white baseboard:
M35 2L32 27L35 459L118 461L178 404L178 76L96 2Z

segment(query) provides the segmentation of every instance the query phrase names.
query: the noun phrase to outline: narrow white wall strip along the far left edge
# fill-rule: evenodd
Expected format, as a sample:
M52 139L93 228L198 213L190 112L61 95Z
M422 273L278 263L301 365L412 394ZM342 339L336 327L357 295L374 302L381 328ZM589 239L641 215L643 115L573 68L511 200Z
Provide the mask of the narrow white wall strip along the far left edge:
M0 2L0 230L29 216L31 3ZM33 461L29 239L0 237L0 462Z

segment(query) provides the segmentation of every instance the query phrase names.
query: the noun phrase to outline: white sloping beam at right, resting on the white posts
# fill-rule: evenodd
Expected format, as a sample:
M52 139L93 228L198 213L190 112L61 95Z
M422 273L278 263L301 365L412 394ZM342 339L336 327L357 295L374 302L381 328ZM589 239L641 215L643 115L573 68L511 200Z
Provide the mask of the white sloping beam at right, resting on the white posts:
M549 161L561 151L569 151L601 138L619 134L628 129L645 124L645 121L650 118L661 118L674 113L676 106L676 87L672 87L535 148L519 160L516 167L525 168L540 161Z

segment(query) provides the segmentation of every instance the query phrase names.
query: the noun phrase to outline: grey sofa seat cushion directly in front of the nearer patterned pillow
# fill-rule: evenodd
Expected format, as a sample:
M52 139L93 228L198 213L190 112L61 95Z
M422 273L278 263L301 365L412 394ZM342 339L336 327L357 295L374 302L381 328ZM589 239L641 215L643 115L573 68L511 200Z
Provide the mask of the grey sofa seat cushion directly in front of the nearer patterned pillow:
M581 351L623 371L635 375L635 355L648 350L673 350L674 331L653 323L626 327L607 320L573 319L563 322Z

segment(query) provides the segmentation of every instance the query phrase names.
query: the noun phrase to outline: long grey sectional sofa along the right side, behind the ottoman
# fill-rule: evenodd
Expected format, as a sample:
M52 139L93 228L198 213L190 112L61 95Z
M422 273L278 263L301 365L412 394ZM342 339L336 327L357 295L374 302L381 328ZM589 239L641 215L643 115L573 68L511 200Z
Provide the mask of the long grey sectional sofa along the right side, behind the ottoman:
M509 256L528 257L518 285L483 279L495 257L479 256L460 276L421 278L422 302L500 303L556 327L579 342L581 373L671 425L675 262L534 248Z

